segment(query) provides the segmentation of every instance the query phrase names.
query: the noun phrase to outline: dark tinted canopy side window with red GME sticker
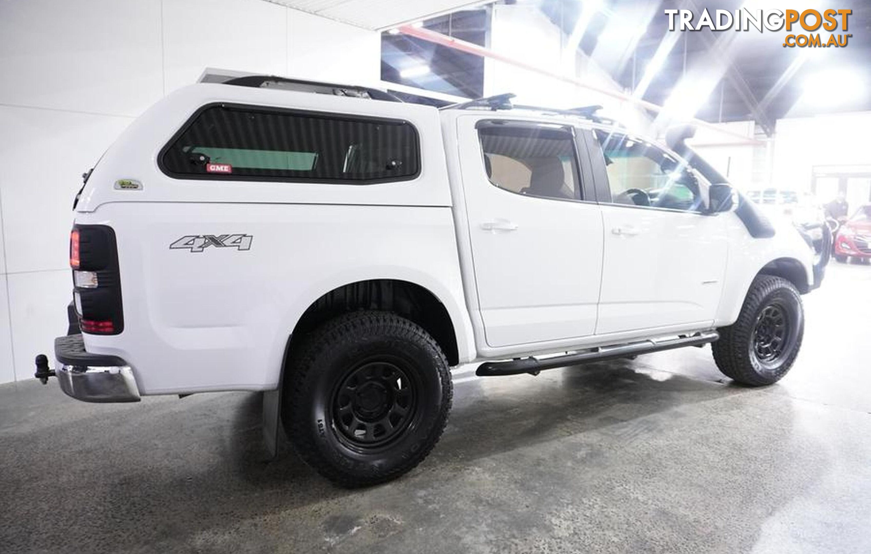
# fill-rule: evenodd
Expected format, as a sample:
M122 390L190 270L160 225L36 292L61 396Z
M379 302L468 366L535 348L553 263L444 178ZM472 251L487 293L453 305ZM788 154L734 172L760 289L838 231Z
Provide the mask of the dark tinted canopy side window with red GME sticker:
M419 151L406 121L212 105L160 159L181 179L366 184L415 178Z

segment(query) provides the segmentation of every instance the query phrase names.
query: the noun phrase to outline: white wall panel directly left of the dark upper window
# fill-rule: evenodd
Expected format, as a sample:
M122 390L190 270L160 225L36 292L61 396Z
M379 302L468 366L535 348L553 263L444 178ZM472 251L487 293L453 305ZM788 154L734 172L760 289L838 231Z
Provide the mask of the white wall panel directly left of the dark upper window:
M381 34L287 10L287 74L341 84L381 78Z

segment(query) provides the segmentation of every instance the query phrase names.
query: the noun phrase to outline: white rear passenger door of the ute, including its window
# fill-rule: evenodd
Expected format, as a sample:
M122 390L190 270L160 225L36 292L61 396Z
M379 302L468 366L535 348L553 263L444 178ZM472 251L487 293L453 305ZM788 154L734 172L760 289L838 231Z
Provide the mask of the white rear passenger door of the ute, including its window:
M458 125L487 344L593 334L602 216L584 192L574 130L505 119L459 118Z

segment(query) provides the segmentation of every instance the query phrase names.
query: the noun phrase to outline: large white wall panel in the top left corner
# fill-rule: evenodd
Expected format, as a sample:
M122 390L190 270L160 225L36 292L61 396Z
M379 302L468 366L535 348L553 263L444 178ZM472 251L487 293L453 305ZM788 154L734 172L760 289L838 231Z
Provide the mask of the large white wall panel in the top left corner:
M0 104L138 115L160 98L160 0L0 2Z

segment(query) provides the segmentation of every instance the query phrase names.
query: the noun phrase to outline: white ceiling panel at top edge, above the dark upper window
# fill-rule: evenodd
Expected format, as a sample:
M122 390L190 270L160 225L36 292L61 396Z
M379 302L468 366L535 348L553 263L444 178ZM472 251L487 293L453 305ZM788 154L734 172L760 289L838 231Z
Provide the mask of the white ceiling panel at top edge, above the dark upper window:
M295 10L356 25L385 30L399 24L420 21L459 10L484 0L267 0Z

